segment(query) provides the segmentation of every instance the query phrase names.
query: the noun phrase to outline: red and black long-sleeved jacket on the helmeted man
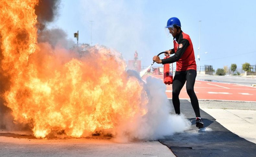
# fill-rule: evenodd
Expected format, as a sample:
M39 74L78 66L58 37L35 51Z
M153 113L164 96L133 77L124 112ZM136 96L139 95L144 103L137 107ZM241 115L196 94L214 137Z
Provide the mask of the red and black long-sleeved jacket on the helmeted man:
M175 55L162 59L162 64L176 62L176 71L196 70L195 54L189 35L180 31L173 38L173 45L172 53Z

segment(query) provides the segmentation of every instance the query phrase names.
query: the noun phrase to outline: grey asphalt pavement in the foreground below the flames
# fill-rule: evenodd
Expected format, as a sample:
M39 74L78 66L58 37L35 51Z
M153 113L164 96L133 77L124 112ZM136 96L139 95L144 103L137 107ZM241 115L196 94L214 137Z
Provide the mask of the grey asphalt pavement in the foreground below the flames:
M0 156L170 157L175 155L158 141L118 143L109 138L47 140L31 138L31 135L0 133Z

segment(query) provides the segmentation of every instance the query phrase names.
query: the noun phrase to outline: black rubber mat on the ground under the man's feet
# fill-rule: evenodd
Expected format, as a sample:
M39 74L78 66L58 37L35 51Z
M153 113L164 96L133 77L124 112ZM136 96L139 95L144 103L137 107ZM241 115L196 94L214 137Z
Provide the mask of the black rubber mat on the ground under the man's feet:
M205 127L196 128L195 114L189 101L180 100L180 111L192 122L191 129L159 140L176 156L256 156L255 143L230 132L201 109Z

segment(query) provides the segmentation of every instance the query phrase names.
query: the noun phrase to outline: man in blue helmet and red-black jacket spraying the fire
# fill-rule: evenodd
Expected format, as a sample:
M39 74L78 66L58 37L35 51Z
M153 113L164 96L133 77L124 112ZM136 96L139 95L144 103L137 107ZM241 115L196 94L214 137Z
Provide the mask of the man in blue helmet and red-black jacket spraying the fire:
M172 103L176 114L180 114L180 91L186 83L186 90L190 97L192 107L196 116L196 127L203 128L203 119L200 116L198 99L194 92L196 78L196 62L192 41L189 35L181 30L180 20L177 17L171 17L165 27L169 35L173 36L174 48L166 50L166 56L174 54L167 59L160 59L158 56L153 57L153 61L162 64L176 62L176 71L172 84Z

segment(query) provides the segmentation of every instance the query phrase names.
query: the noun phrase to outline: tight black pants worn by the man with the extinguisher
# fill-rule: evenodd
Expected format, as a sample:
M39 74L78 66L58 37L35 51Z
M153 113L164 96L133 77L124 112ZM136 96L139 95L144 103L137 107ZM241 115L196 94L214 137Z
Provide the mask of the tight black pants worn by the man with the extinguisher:
M200 117L199 104L197 97L194 92L194 84L195 84L196 71L195 70L187 70L175 72L175 76L173 78L172 84L172 103L174 106L174 110L176 114L180 114L180 90L186 83L187 93L190 97L192 107L194 109L196 117Z

